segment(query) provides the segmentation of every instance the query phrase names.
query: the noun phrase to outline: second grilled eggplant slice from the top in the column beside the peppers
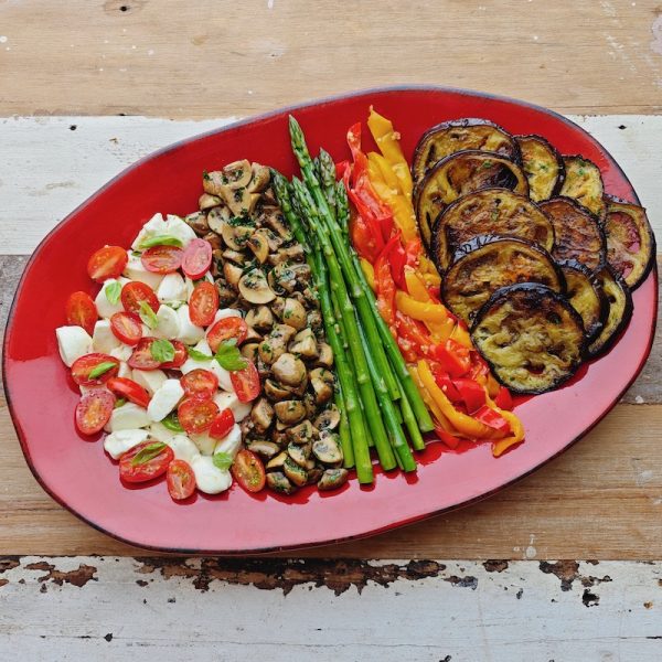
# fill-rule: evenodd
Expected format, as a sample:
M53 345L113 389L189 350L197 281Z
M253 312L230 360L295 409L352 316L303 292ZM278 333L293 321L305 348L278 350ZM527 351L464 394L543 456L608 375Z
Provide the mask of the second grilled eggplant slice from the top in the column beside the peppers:
M430 245L433 223L460 195L481 189L503 188L523 195L528 184L513 161L481 150L466 150L439 161L420 183L416 216L426 245Z

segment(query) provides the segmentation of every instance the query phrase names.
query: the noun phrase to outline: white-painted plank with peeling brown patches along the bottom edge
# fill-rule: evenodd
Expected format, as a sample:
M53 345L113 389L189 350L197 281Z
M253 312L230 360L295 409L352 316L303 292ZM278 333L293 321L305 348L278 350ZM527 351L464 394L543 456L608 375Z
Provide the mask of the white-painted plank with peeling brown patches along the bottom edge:
M273 560L4 563L2 660L103 662L128 654L136 662L265 655L291 662L303 654L322 662L650 662L662 654L661 563L365 562L343 574L327 562L313 568L318 577L324 567L337 573L337 591L305 581L305 562L278 562L287 565L277 577ZM371 574L375 580L360 592L352 583ZM421 574L427 577L416 578ZM288 581L289 592L279 588Z

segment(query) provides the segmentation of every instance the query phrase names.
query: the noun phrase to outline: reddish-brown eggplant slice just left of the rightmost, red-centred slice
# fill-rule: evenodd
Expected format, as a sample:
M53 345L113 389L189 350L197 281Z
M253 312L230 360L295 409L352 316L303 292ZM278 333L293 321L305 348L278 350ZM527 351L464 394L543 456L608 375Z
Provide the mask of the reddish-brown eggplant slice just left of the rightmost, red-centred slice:
M605 265L605 234L598 220L570 197L554 197L540 204L554 225L557 260L576 259L591 271Z

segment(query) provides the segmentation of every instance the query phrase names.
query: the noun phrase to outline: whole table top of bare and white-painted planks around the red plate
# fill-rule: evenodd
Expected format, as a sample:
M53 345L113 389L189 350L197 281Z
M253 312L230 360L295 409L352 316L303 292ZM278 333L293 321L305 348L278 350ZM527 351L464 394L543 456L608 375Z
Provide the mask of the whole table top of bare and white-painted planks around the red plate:
M41 238L136 159L232 118L406 83L572 116L662 236L658 2L6 0L0 324ZM519 484L297 559L158 558L94 531L32 478L0 397L0 653L239 660L255 642L276 660L661 659L661 346L659 330L623 402Z

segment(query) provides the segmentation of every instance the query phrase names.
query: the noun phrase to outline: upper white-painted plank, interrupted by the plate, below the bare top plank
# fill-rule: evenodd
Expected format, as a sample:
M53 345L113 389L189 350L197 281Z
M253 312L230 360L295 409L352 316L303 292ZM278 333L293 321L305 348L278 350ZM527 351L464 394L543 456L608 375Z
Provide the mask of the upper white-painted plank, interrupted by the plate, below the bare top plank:
M662 116L572 119L587 128L621 163L660 233ZM0 253L31 253L58 221L137 159L228 121L146 117L0 119Z

